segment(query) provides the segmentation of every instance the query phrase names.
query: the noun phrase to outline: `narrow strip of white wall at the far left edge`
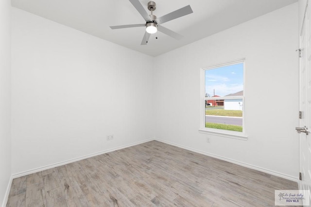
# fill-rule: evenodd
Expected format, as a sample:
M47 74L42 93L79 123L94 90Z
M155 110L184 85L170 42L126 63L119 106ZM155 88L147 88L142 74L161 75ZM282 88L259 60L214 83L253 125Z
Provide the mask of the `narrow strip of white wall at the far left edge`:
M11 1L0 1L0 203L11 176Z

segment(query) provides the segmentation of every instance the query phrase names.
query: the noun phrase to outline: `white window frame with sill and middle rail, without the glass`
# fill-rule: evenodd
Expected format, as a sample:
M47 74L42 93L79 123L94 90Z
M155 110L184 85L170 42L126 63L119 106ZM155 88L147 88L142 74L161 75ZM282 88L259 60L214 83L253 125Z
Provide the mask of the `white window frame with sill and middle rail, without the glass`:
M210 69L215 69L218 67L228 66L232 64L240 64L243 63L243 96L223 96L223 97L205 97L205 71ZM207 67L201 68L201 110L200 110L200 119L201 119L201 126L199 128L200 133L210 134L210 135L217 135L226 138L233 138L233 139L240 139L240 140L247 140L246 135L246 125L245 125L245 59L239 59L234 61L225 62L222 64L214 64ZM205 101L206 100L218 100L218 99L242 99L242 127L243 131L230 131L230 130L223 130L217 128L207 128L205 127Z

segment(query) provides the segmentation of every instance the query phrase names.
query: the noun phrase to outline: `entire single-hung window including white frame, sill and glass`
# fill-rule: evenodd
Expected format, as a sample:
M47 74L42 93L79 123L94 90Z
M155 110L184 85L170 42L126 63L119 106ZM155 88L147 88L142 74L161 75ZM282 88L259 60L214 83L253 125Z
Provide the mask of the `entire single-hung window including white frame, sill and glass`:
M246 139L244 72L244 60L202 68L200 132Z

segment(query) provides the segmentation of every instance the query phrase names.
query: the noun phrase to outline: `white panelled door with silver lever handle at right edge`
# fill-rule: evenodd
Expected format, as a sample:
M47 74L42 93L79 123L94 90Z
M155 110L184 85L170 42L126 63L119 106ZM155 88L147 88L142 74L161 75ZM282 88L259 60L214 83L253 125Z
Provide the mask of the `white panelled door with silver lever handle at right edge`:
M300 33L299 64L299 165L301 180L299 190L311 190L311 5L306 4ZM310 191L309 191L309 199Z

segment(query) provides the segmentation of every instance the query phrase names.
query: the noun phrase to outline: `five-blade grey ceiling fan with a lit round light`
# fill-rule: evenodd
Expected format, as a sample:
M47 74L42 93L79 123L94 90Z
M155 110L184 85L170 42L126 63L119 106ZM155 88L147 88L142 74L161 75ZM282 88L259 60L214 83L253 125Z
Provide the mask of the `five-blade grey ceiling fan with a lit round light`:
M182 35L165 28L161 26L160 24L163 24L165 22L171 21L181 16L185 16L185 15L189 15L193 13L190 5L188 5L174 12L171 12L167 15L157 18L155 15L153 15L153 11L155 11L156 9L156 4L154 1L149 1L148 3L148 10L151 11L151 15L147 14L146 10L143 8L139 0L129 0L129 1L137 9L139 14L145 19L146 23L145 24L129 24L129 25L110 26L110 28L115 30L115 29L131 28L131 27L146 27L146 32L142 38L140 45L147 45L150 35L157 31L167 34L175 39L181 39L183 37Z

